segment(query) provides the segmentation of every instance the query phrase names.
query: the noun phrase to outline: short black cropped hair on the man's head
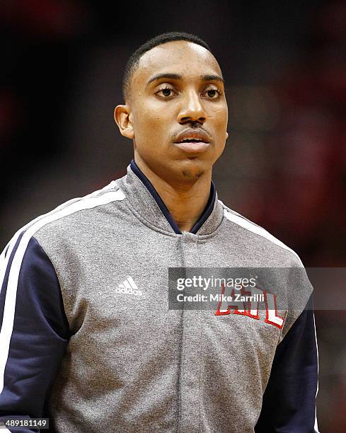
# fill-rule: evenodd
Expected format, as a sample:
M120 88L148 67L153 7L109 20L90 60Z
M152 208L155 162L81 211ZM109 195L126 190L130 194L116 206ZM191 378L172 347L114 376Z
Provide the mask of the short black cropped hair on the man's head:
M137 48L137 50L131 55L131 57L129 57L127 61L125 71L124 71L124 76L122 79L122 96L124 100L126 100L127 96L129 95L129 88L131 85L132 75L134 74L134 71L137 69L137 66L139 64L139 59L142 57L144 52L147 52L151 50L151 48L157 47L158 45L166 44L167 42L172 42L173 40L187 40L188 42L193 42L197 45L201 45L206 50L210 51L207 42L204 42L204 40L202 40L200 37L196 35L191 35L190 33L168 32L168 33L161 33L161 35L152 37L151 39L144 42L144 44L141 45L139 48Z

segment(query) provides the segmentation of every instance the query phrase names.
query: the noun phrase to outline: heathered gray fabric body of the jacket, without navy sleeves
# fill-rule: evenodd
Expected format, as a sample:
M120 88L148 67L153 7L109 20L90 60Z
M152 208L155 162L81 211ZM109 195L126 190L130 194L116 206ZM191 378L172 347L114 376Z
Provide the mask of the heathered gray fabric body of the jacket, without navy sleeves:
M35 233L73 333L50 395L56 432L253 432L275 349L296 316L280 330L246 316L168 311L168 267L299 259L226 219L219 200L197 234L179 235L130 168L113 188L125 199ZM128 276L142 296L115 292Z

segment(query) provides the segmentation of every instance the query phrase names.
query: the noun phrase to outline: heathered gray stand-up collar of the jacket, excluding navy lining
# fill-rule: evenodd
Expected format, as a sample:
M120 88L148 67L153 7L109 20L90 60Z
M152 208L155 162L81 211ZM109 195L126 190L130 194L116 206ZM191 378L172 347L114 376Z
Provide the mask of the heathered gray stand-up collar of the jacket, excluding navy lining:
M182 234L172 215L168 211L158 192L132 159L127 166L127 175L121 179L121 189L128 199L130 207L147 223L163 231ZM224 217L222 205L217 199L214 182L210 185L209 200L190 233L207 235L221 224Z

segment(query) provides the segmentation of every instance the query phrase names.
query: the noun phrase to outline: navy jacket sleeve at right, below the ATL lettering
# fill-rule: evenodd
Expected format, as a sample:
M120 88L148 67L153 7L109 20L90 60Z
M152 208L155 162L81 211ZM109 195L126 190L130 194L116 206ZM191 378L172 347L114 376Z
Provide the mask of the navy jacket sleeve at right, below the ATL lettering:
M318 433L318 348L312 296L277 345L256 433Z

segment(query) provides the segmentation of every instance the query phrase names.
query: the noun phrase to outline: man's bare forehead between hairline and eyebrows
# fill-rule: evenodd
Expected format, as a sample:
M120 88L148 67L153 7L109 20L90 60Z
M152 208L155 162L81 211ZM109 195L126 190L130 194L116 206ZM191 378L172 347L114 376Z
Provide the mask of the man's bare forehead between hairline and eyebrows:
M142 84L155 74L163 72L181 74L183 77L219 75L217 59L204 47L193 42L177 40L151 48L139 59L132 84Z

